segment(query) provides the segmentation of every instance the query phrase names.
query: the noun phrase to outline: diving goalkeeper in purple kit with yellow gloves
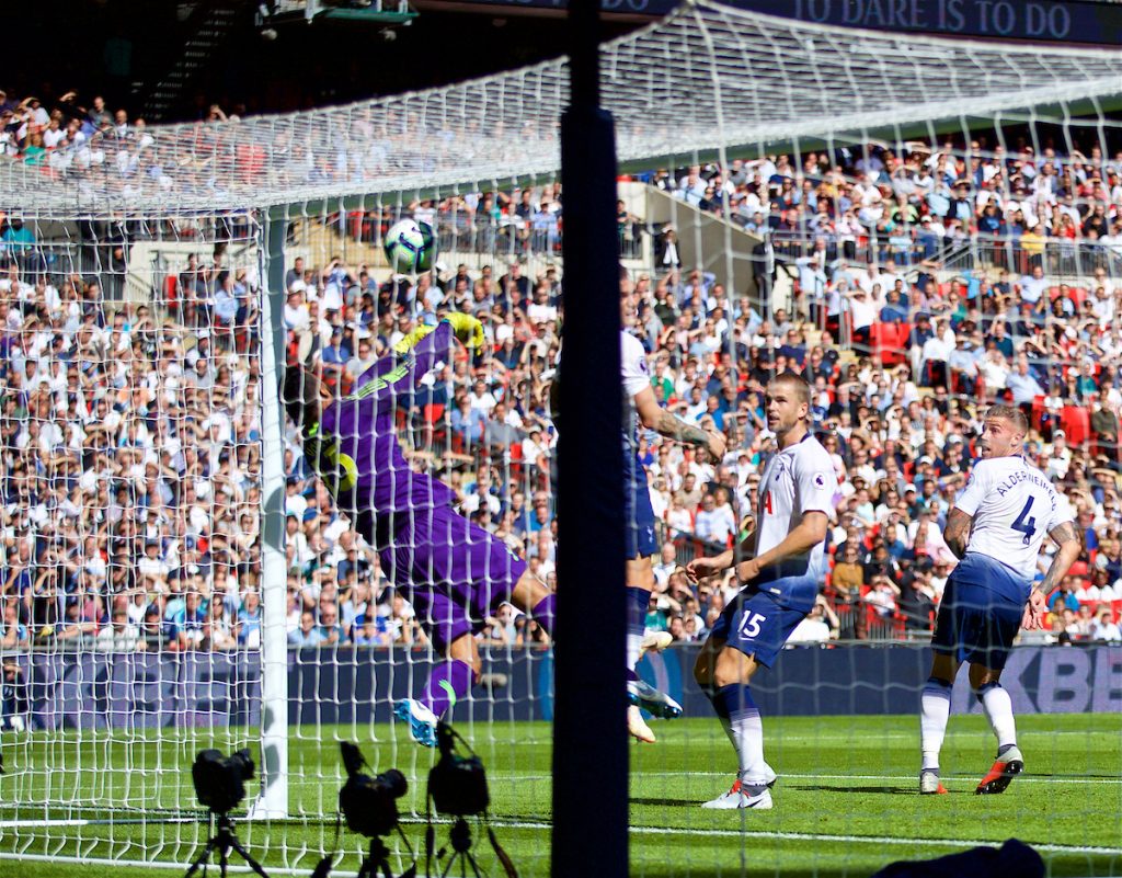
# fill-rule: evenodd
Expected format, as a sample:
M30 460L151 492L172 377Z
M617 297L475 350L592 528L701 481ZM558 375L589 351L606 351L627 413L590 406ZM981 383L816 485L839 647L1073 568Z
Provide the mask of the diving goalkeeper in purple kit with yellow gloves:
M475 633L509 602L552 634L554 595L502 540L453 511L456 494L410 467L394 424L396 397L454 342L484 342L473 317L450 313L436 327L413 330L359 376L349 396L333 400L311 372L289 368L285 409L303 435L304 456L355 528L374 546L386 575L413 604L436 651L419 698L394 705L413 738L436 744L436 721L478 680Z

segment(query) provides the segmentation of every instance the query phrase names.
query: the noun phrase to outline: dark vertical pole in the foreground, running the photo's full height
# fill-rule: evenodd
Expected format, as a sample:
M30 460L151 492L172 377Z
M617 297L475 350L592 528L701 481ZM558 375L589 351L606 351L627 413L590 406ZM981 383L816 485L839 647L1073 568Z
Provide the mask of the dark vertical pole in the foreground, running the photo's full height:
M627 875L619 243L614 122L599 106L598 3L569 2L571 100L561 116L553 878Z

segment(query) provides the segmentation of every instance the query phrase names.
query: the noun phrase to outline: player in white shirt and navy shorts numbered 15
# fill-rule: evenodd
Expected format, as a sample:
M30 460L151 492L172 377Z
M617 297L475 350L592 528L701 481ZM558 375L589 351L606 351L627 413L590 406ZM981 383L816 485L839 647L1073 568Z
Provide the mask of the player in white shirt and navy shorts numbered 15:
M744 588L712 627L693 668L739 758L733 787L702 807L770 808L775 772L764 761L763 726L752 677L770 668L810 613L826 575L826 533L837 477L829 452L810 432L810 385L793 373L767 386L767 429L779 451L760 481L756 530L716 558L697 558L698 579L734 563Z

